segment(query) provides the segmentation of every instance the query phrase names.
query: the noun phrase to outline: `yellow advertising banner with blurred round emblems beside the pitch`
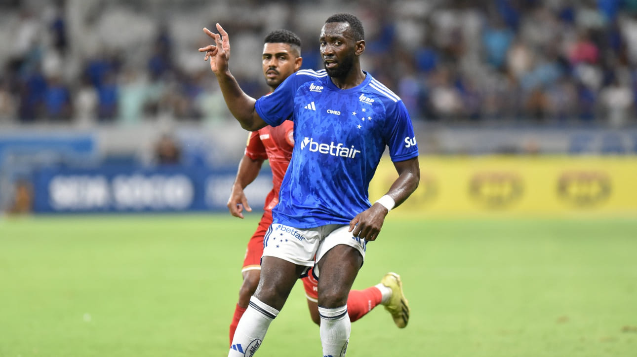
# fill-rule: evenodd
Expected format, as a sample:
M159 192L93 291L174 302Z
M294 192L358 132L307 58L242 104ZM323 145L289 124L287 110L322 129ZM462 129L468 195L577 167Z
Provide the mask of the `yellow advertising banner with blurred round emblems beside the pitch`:
M371 202L397 178L383 157ZM637 157L421 157L407 213L607 213L637 218Z

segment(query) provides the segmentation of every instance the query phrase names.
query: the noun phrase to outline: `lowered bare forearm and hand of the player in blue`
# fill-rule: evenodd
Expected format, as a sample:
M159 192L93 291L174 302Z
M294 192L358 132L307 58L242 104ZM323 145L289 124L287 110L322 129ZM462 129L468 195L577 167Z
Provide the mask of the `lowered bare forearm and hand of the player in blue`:
M394 162L394 167L398 172L398 178L387 191L386 195L391 197L396 206L399 206L418 187L420 182L420 165L418 157L409 160ZM396 207L394 206L394 207ZM383 227L385 216L389 213L382 204L375 202L369 209L357 214L350 221L350 229L354 237L361 237L366 241L374 241L380 229Z

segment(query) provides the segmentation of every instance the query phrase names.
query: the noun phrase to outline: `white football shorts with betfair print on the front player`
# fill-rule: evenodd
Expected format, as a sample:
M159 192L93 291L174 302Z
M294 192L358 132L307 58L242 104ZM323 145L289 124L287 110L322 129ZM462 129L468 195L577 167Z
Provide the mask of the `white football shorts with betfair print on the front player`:
M263 256L276 256L296 265L313 267L329 249L345 244L357 249L365 260L367 241L348 232L349 225L324 225L297 229L273 223L263 239ZM314 270L318 276L318 269Z

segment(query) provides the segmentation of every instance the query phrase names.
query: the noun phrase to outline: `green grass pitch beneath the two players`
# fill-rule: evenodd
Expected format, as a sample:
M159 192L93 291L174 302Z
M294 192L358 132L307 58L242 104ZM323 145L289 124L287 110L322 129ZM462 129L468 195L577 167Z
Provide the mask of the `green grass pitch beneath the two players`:
M0 218L0 356L226 356L259 214ZM637 220L390 214L354 288L403 276L348 357L637 356ZM320 356L302 285L258 356Z

